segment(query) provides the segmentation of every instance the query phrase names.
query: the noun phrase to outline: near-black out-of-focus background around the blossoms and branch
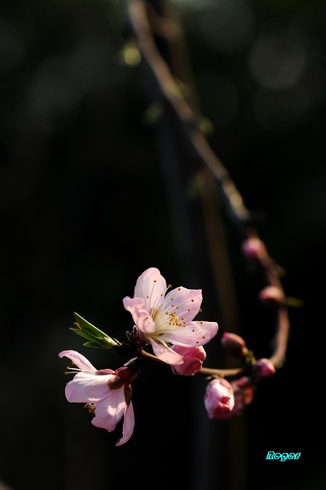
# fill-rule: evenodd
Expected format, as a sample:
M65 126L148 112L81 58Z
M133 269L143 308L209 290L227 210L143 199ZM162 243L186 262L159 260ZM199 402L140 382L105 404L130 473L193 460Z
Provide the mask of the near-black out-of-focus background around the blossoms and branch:
M247 207L264 211L260 235L285 268L285 291L306 302L290 311L287 363L246 411L243 489L319 490L325 3L183 0L180 14L201 108L214 127L208 141ZM94 428L82 406L64 398L59 351L76 349L98 368L122 365L69 332L73 311L123 339L132 319L122 297L133 294L139 274L158 267L173 287L183 278L155 125L143 123L141 70L119 55L123 32L118 1L0 3L0 479L13 490L174 489L178 479L204 490L196 483L198 420L220 437L207 456L205 488L228 490L227 423L206 422L204 379L144 369L134 381L134 435L118 448L116 433ZM257 357L268 356L271 313L257 302L263 283L226 232L241 334ZM206 365L222 367L223 325L203 263L208 257L194 262L183 286L204 290L202 318L220 324ZM266 461L267 451L302 456Z

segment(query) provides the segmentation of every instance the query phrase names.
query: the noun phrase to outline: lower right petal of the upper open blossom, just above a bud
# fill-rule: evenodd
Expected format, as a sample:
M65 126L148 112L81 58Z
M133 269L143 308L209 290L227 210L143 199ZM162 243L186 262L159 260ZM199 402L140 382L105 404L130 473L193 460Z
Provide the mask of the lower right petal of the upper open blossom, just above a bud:
M215 321L191 321L186 327L176 327L175 330L164 333L162 340L185 347L205 345L218 332Z

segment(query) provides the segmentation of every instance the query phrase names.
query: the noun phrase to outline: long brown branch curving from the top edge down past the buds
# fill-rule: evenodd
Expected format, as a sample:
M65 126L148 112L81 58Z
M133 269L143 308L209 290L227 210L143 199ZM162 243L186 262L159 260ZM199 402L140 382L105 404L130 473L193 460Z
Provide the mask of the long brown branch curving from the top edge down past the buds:
M253 231L248 228L248 220L250 213L243 204L243 199L236 189L234 182L229 176L227 169L222 165L218 157L213 153L208 145L203 134L196 127L196 117L194 111L187 104L183 94L181 93L178 83L173 78L169 66L162 59L160 52L157 50L153 38L153 32L148 20L147 3L144 0L129 0L129 17L132 22L132 27L139 42L139 46L146 58L150 68L153 70L157 85L166 101L171 104L180 122L185 123L187 127L187 136L189 145L201 158L203 165L206 165L220 184L223 204L232 218L236 221L238 229L250 237ZM157 26L157 18L152 15L152 21ZM161 25L162 27L162 25ZM246 230L246 231L245 231ZM278 270L275 262L269 257L267 251L264 257L258 259L262 267L262 271L267 278L267 283L271 286L276 286L283 291L281 281L278 277ZM276 367L281 367L285 360L286 346L288 343L288 334L290 330L290 322L288 319L288 311L285 306L278 307L278 321L276 327L276 335L274 337L274 352L271 355L271 362ZM223 370L221 370L223 371Z

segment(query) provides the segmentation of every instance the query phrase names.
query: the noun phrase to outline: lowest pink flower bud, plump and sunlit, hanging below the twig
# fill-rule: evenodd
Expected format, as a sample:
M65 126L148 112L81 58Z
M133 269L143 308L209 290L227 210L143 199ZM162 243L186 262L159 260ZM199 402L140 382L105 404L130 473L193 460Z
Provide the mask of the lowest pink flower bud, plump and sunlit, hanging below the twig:
M224 378L210 381L204 401L210 419L220 419L222 414L229 414L234 407L233 389L229 381Z

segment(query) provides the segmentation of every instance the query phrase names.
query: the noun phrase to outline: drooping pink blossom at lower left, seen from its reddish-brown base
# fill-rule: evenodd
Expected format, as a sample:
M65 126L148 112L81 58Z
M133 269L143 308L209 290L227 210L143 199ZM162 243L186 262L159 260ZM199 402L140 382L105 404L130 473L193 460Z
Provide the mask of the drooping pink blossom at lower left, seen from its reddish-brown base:
M115 429L118 421L123 421L122 438L117 446L125 444L134 431L134 410L132 408L132 371L128 367L118 370L97 370L89 360L76 351L62 351L59 357L66 356L78 366L76 376L66 385L66 399L69 402L86 403L94 413L92 424L105 428L108 432ZM73 368L70 368L73 369Z

